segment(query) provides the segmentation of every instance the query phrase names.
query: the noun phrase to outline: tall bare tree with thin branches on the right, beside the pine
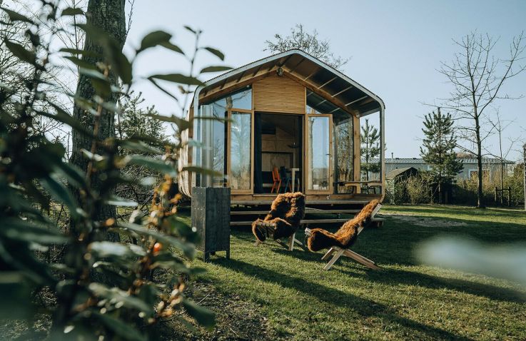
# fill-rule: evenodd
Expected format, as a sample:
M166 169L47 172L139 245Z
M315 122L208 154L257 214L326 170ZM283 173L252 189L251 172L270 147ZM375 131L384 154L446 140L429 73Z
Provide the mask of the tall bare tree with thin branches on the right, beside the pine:
M512 39L510 56L497 58L492 51L497 43L488 34L473 32L455 41L460 51L450 63L442 63L440 73L452 85L448 98L443 98L442 108L455 113L459 137L476 148L477 157L477 207L485 207L482 196L482 142L492 133L489 123L492 103L500 99L513 99L503 93L502 85L525 70L521 64L525 51L522 32ZM464 148L468 150L467 148Z

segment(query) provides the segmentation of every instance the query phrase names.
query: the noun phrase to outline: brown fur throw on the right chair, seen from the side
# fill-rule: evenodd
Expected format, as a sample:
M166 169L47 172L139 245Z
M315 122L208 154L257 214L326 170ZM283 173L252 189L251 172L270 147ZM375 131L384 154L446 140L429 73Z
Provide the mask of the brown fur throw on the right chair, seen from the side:
M345 222L335 233L330 233L323 228L313 228L310 230L311 234L307 240L308 249L316 252L332 246L349 248L358 237L358 228L370 223L371 214L378 203L380 203L379 200L372 200L355 218Z

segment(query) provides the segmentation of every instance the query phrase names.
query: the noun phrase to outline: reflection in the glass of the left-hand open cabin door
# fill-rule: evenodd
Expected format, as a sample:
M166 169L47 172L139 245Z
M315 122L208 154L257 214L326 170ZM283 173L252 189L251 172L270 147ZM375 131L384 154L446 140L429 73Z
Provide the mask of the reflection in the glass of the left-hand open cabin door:
M233 190L251 189L251 113L232 111L231 115L231 178Z

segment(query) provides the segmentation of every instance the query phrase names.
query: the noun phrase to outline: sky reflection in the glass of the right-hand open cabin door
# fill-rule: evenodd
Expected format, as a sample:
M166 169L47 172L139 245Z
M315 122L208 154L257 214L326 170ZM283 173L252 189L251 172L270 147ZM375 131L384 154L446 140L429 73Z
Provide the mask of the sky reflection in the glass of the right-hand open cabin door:
M329 118L308 118L308 189L328 190L330 184Z

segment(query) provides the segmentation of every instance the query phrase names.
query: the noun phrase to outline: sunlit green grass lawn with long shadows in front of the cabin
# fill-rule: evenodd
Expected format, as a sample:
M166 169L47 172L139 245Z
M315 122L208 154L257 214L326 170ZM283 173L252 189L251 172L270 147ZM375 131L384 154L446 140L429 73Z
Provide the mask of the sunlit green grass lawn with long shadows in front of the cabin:
M193 288L217 312L210 340L526 340L526 288L505 280L419 265L413 250L434 235L526 242L526 214L459 206L393 206L382 228L365 229L353 250L382 271L340 258L322 270L323 253L256 248L248 228L232 231L224 253ZM248 320L243 324L243 319Z

